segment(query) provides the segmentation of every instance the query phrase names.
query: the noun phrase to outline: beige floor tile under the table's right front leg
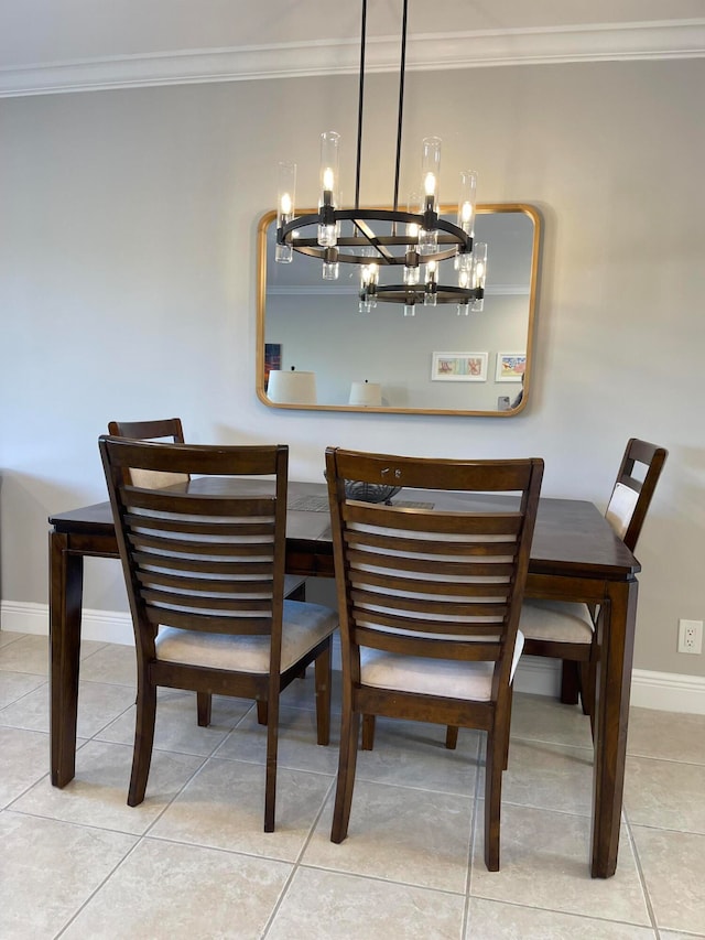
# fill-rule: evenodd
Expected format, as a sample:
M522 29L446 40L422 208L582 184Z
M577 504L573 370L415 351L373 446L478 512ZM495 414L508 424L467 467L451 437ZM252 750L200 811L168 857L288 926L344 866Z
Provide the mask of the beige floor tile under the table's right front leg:
M587 817L502 806L501 871L488 872L478 808L470 894L489 900L545 907L587 917L649 925L649 915L626 826L611 878L589 874Z

